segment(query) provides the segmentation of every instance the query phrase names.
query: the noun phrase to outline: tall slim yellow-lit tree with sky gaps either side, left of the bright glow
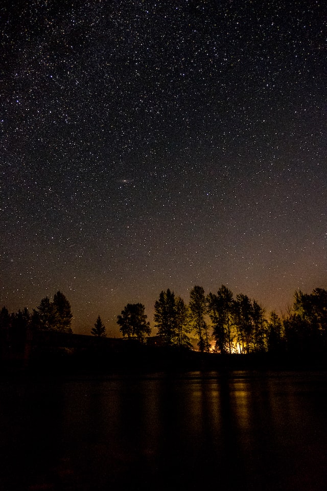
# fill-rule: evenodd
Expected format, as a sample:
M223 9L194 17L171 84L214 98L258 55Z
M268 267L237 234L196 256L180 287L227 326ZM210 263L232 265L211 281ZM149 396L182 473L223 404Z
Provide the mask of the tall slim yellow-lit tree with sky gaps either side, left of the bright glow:
M197 337L200 351L209 351L208 329L205 322L206 300L202 286L195 285L190 293L190 320Z

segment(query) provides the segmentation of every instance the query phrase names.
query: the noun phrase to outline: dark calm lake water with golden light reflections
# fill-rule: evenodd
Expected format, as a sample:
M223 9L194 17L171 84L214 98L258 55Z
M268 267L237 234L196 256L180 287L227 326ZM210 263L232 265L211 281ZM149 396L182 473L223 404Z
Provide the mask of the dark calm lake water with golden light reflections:
M0 489L326 488L326 373L2 381L0 398Z

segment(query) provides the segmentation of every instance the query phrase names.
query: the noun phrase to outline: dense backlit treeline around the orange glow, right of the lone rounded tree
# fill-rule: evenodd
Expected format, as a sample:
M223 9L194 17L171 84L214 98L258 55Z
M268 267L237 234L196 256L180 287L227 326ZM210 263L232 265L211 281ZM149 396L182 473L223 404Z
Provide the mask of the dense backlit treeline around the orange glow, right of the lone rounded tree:
M236 297L225 285L205 295L190 292L189 304L169 289L155 302L154 324L168 345L190 346L216 353L324 353L327 347L327 291L295 292L285 315L265 309L247 295Z

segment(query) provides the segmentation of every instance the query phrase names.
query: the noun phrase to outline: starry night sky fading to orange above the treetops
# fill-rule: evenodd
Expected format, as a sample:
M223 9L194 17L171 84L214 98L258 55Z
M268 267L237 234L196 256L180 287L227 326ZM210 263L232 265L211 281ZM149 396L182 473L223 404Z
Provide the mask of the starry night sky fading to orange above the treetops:
M0 304L327 287L327 3L2 2ZM153 326L153 324L152 324Z

